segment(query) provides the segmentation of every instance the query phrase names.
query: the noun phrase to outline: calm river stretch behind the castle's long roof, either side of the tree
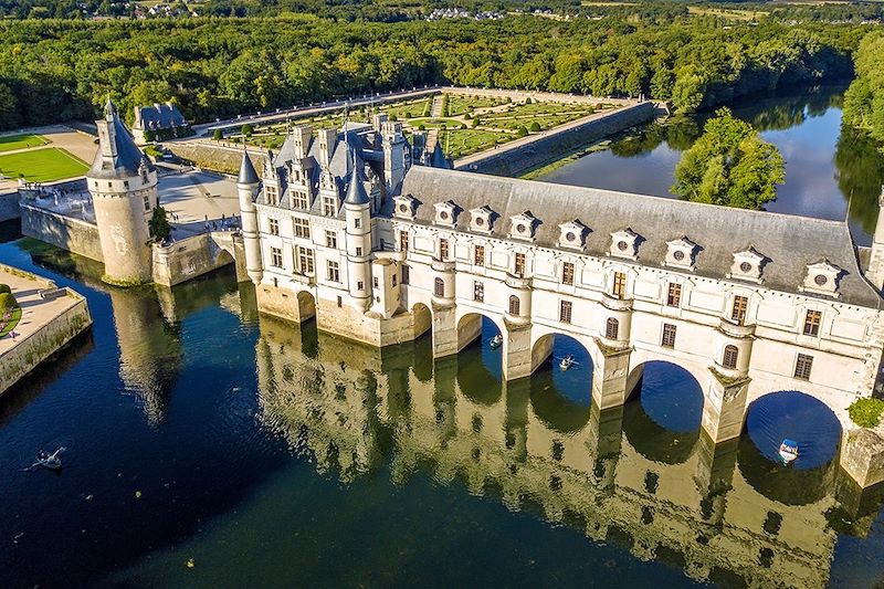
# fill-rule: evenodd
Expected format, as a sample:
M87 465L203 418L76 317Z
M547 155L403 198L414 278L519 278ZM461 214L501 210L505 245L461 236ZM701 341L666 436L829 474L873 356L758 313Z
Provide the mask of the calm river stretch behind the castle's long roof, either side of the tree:
M790 97L754 101L733 108L776 145L786 160L786 183L776 212L842 220L850 202L850 227L861 245L872 242L877 199L884 183L884 156L851 129L841 129L843 88L818 88ZM587 155L540 178L674 198L675 165L703 130L708 114L643 127L610 149Z

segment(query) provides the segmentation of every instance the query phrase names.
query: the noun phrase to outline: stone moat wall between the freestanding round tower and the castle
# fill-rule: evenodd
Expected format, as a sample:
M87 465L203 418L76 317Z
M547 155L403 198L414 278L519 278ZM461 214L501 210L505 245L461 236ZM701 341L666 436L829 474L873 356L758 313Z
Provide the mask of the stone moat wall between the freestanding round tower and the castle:
M218 235L219 241L214 236ZM230 241L230 244L224 243ZM155 245L154 282L175 286L233 263L228 252L233 248L232 233L202 233L172 243L166 248Z

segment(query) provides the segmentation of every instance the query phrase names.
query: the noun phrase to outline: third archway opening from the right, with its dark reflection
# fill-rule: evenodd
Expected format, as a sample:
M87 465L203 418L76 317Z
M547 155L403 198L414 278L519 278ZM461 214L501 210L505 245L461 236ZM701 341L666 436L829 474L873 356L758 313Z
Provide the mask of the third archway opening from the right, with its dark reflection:
M573 337L548 334L535 341L532 357L536 367L530 378L535 414L562 433L582 429L592 407L593 365L589 350Z

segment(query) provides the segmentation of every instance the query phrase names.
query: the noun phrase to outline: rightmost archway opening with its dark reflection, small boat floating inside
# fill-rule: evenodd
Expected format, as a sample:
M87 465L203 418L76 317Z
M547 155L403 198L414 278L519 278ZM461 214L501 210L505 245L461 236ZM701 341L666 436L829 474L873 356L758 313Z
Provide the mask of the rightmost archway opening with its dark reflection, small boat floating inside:
M739 469L749 484L768 498L804 505L824 497L834 483L841 444L841 422L829 407L804 392L765 395L746 412L746 433L739 444ZM780 444L798 444L798 459L788 465Z

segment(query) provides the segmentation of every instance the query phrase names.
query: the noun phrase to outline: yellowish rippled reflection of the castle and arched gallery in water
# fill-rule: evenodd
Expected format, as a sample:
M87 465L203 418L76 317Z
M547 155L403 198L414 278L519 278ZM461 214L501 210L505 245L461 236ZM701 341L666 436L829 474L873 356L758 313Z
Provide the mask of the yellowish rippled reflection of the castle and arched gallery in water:
M836 460L777 469L748 437L669 432L640 400L602 413L551 368L501 382L484 341L434 362L427 338L379 350L263 315L260 332L265 425L345 484L429 465L438 484L724 585L823 587L838 535L865 536L877 513Z

